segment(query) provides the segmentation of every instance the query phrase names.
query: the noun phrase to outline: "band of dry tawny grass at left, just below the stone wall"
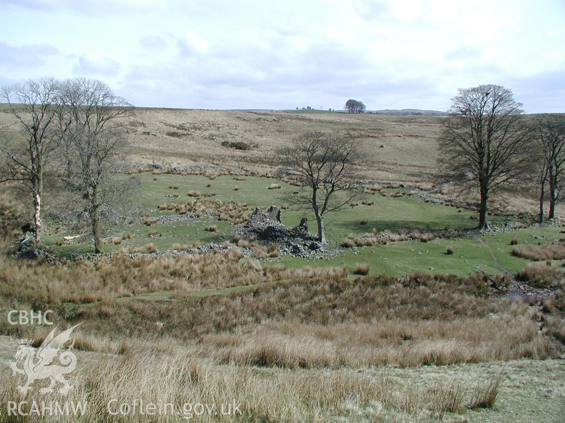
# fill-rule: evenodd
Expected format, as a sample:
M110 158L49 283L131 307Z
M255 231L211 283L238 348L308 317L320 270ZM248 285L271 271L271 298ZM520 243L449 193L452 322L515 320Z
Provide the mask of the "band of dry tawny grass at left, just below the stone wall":
M194 245L174 245L186 250ZM154 252L148 245L136 252ZM237 249L236 249L237 250ZM276 250L276 249L275 249ZM271 250L274 253L275 250ZM168 290L191 293L203 288L225 288L284 279L300 271L284 268L263 271L256 261L241 261L242 254L114 255L97 263L0 261L0 303L36 306L62 306L66 302L91 303L102 299L129 297ZM42 283L38 284L37 281ZM17 307L16 307L17 308Z

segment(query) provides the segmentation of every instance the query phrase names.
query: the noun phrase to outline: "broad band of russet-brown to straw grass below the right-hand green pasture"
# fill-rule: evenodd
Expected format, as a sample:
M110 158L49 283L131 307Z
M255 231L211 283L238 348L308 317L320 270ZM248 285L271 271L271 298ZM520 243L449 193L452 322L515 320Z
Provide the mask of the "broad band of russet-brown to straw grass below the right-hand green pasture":
M215 257L227 255L201 259L220 264ZM174 263L171 258L168 261ZM165 263L161 261L159 268ZM190 279L197 284L208 277L208 286L219 286L225 267L198 272ZM347 271L338 268L263 269L257 261L246 260L231 270L238 272L233 279L242 278L244 272L255 275L247 282L273 277L289 280L229 297L192 297L190 290L176 289L173 298L182 302L107 299L66 318L63 309L56 307L55 318L86 320L85 332L114 333L127 328L130 337L144 339L167 333L180 342L196 342L203 358L241 365L418 366L560 354L551 338L538 332L527 305L481 297L489 291L487 277L418 275L398 280L367 276L352 284ZM153 287L155 291L162 288ZM101 319L103 327L97 323ZM13 331L8 326L5 331Z

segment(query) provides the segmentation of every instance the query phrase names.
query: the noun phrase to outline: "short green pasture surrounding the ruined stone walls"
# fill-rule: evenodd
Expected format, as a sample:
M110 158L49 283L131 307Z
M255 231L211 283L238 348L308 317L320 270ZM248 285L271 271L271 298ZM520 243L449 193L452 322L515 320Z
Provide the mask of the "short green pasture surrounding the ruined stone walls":
M191 202L195 197L188 196L189 191L198 191L201 194L215 193L215 196L198 197L203 200L220 200L222 202L234 201L246 203L249 210L256 206L276 205L284 206L281 197L285 193L298 189L290 184L280 182L274 178L245 177L245 180L236 180L234 176L223 175L211 180L202 175L154 175L141 173L141 204L149 217L159 217L164 214L175 215L175 211L159 210L158 206L167 203ZM156 180L155 180L156 179ZM269 190L268 187L278 183L280 189ZM207 185L210 184L210 187ZM179 189L169 188L178 186ZM238 190L234 190L234 188ZM398 190L385 190L395 192ZM168 198L166 195L178 194L178 198ZM469 274L472 272L486 272L499 274L504 268L518 272L524 268L527 261L511 255L510 240L518 238L519 243L551 243L560 239L559 227L531 228L499 233L494 236L485 235L479 239L436 239L428 243L420 241L403 241L374 245L352 249L340 249L336 244L346 239L347 235L354 233L362 235L371 232L372 228L379 231L393 231L406 228L419 228L420 230L445 230L450 228L473 228L476 219L471 219L475 212L456 207L424 202L418 197L403 196L389 198L379 195L365 195L365 200L373 201L373 205L358 205L350 207L340 213L330 214L325 218L326 235L329 241L334 241L329 249L336 249L336 254L331 259L301 259L289 255L269 259L266 265L285 265L290 267L304 266L346 266L353 272L357 263L366 263L370 266L372 274L385 273L388 275L402 276L414 272L447 272L455 274ZM303 217L301 211L289 209L282 210L282 222L288 226L297 226ZM315 219L306 214L310 230L315 232ZM509 221L505 217L491 217L493 224ZM361 224L366 221L366 224ZM216 232L205 231L206 226L215 225ZM124 225L110 228L107 234L121 236L129 234L131 237L121 241L121 244L107 244L105 251L112 252L129 246L140 247L154 244L158 250L171 248L173 244L189 245L195 242L221 243L231 240L232 225L220 222L215 218L195 218L186 221L159 223L147 226L143 223ZM77 244L72 241L62 246L55 245L68 233L50 233L45 237L47 244L61 255L73 252L86 253L92 251L92 244ZM447 246L453 246L454 254L446 254ZM497 261L494 260L496 257ZM555 262L554 265L558 265Z

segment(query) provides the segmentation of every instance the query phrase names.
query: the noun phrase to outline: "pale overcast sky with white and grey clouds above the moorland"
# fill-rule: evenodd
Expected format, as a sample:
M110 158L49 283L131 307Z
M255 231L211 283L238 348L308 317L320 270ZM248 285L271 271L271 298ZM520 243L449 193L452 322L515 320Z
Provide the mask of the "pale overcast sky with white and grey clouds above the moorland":
M510 88L565 112L565 2L0 0L0 83L106 81L143 107L446 110Z

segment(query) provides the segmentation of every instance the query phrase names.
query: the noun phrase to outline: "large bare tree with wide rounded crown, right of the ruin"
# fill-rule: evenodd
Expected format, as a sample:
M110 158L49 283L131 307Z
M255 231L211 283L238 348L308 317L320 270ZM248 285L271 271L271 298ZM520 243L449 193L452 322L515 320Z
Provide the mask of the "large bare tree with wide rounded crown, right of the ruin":
M488 201L531 168L531 130L512 91L499 85L460 89L440 137L449 178L480 195L479 229L488 228Z

